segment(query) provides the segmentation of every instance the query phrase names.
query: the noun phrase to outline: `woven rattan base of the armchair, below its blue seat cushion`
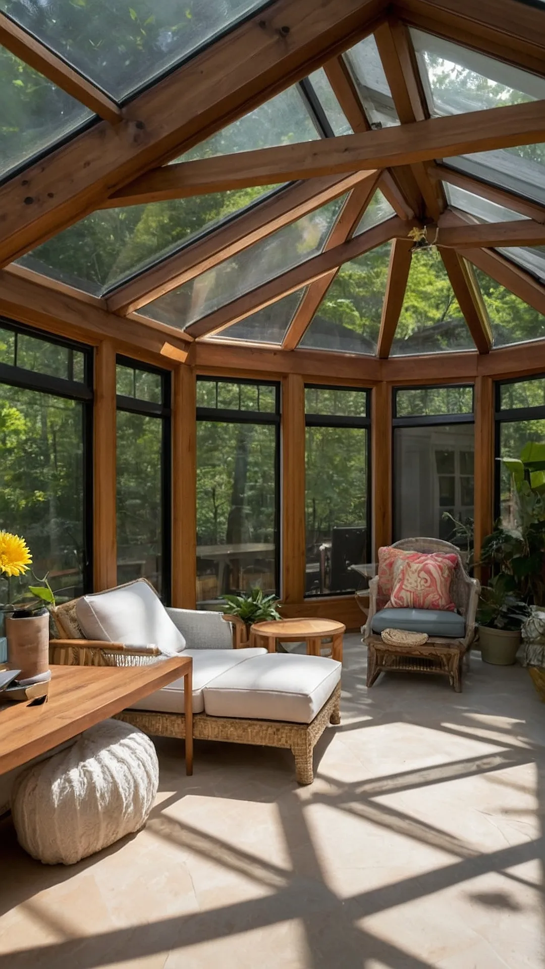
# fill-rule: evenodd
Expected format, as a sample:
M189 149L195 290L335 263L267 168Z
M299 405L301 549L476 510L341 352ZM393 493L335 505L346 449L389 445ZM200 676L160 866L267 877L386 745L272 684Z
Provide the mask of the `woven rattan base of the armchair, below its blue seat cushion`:
M368 686L381 672L433 672L448 676L457 693L462 692L462 663L465 646L458 640L429 640L422 645L390 644L380 636L369 636Z

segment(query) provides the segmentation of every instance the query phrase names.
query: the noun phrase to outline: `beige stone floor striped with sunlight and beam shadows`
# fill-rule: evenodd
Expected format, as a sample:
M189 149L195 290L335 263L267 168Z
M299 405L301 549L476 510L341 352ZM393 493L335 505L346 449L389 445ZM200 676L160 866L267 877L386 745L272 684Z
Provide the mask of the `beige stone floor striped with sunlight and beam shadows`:
M0 969L538 969L545 706L473 653L464 693L345 639L342 723L285 751L158 741L147 827L73 867L0 826Z

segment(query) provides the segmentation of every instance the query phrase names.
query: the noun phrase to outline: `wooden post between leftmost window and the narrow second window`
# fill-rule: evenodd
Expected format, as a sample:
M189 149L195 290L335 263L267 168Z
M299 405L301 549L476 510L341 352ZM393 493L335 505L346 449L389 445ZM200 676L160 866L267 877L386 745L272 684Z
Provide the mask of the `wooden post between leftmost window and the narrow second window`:
M95 354L93 586L95 592L117 584L115 518L115 347L99 343Z

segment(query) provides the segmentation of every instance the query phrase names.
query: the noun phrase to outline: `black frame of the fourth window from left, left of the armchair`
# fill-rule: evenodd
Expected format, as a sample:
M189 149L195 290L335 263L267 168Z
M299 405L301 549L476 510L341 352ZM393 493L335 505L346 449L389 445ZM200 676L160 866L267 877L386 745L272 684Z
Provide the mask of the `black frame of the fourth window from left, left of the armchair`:
M305 431L307 427L361 427L365 428L368 432L367 434L367 478L368 478L368 497L367 497L367 508L366 508L366 556L368 561L371 561L372 557L372 466L371 466L371 455L372 455L372 442L371 442L371 401L372 395L369 387L349 387L344 384L307 384L304 385L304 391L358 391L359 393L365 393L367 397L366 401L366 417L345 417L340 414L312 414L306 413L305 406ZM306 435L305 435L305 457L306 457ZM305 508L303 509L303 515L305 516L305 560L306 560L306 460L305 460ZM352 597L353 592L321 592L318 595L308 596L305 595L305 602L313 602L314 600L323 600L338 598L339 596Z

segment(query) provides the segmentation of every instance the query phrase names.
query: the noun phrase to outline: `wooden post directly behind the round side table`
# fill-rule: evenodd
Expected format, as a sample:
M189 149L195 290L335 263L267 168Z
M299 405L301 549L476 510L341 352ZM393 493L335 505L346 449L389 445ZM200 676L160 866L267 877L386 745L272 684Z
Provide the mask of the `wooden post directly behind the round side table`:
M282 583L284 603L305 598L305 383L289 374L282 387Z

